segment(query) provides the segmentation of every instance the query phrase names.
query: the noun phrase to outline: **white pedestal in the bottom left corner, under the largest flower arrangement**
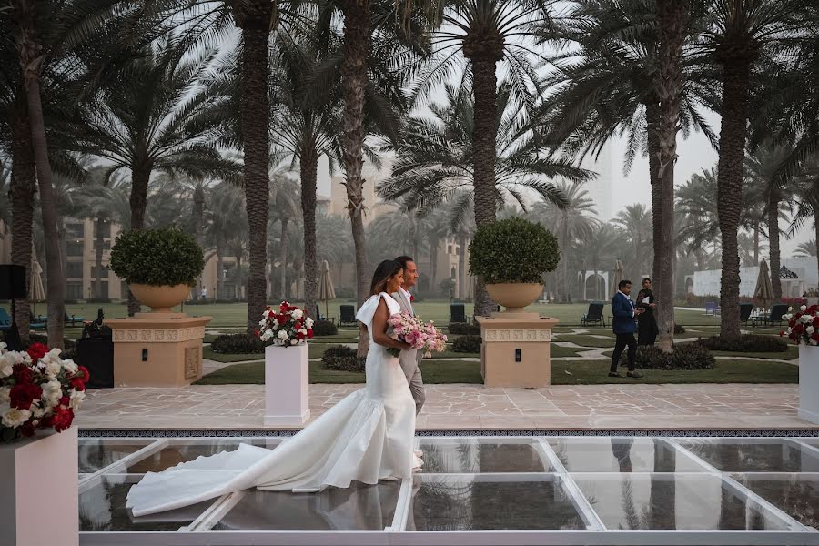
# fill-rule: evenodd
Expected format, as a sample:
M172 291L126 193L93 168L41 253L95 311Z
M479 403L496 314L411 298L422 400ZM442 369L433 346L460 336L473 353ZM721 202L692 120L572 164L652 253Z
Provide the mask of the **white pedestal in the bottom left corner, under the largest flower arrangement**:
M76 427L0 444L0 543L77 546Z

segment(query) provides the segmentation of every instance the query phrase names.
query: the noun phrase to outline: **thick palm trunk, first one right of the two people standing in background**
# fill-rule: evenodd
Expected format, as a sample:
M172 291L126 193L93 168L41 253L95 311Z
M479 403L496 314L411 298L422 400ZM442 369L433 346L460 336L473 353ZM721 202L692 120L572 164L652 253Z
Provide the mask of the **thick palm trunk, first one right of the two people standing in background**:
M750 59L723 60L723 121L717 164L717 214L723 236L723 274L720 279L720 336L739 339L740 260L737 242L743 207L743 161L748 136Z

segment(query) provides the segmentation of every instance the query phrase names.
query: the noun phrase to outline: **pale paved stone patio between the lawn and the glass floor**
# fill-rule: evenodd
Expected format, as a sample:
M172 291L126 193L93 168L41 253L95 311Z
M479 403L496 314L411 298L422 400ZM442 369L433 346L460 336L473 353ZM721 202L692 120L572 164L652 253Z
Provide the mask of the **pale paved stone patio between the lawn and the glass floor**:
M362 385L310 385L312 419ZM262 385L89 390L82 429L265 429ZM428 385L419 430L814 429L797 385ZM280 428L280 427L278 427Z

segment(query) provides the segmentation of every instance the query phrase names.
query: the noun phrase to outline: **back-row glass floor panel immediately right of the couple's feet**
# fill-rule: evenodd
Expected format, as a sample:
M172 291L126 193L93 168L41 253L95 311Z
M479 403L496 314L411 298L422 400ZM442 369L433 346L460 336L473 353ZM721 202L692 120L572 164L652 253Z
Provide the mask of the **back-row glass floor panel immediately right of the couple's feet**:
M545 472L534 441L486 441L477 438L420 441L424 473Z

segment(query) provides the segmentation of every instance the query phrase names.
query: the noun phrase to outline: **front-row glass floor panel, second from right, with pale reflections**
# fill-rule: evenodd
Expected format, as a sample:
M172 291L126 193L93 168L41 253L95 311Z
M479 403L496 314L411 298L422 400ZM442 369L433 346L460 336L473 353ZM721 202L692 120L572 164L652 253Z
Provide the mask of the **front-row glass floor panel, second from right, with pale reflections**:
M572 476L608 529L784 530L756 503L708 474Z

